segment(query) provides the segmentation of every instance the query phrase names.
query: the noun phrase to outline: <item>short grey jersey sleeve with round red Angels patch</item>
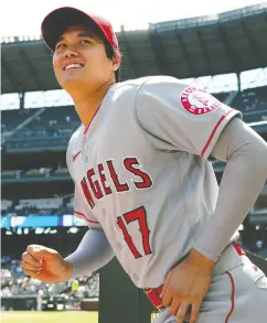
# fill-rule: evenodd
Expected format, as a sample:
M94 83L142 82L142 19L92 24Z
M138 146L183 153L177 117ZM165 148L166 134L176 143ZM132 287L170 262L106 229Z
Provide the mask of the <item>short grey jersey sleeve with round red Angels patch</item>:
M139 88L136 117L156 148L209 159L225 126L242 114L204 89L174 77L157 76Z

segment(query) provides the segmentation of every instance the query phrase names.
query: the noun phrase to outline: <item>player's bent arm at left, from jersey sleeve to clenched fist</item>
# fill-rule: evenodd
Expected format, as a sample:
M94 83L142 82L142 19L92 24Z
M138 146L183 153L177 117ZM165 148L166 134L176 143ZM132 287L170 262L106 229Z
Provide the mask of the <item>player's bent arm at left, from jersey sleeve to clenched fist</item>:
M66 153L67 168L74 183L72 157L77 150L81 150L76 139L77 133L75 132L70 141ZM74 151L73 147L76 151ZM44 282L66 281L71 278L96 271L113 259L114 251L105 233L102 230L100 224L88 211L77 183L75 183L74 209L75 215L83 218L89 227L78 248L63 259L54 249L40 245L31 245L22 254L22 268L25 274Z

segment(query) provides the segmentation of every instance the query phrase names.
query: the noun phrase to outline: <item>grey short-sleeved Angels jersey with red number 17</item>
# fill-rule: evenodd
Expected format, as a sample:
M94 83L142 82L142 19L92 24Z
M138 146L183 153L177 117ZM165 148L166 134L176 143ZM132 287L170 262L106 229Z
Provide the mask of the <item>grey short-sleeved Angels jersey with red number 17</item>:
M105 232L137 287L162 284L212 216L209 158L235 116L202 89L147 77L114 85L71 138L75 214Z

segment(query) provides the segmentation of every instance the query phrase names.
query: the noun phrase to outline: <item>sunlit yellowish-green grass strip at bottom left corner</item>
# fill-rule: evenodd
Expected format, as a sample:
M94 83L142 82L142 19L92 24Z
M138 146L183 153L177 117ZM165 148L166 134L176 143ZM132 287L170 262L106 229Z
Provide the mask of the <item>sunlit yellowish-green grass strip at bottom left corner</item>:
M1 323L97 323L98 312L2 312Z

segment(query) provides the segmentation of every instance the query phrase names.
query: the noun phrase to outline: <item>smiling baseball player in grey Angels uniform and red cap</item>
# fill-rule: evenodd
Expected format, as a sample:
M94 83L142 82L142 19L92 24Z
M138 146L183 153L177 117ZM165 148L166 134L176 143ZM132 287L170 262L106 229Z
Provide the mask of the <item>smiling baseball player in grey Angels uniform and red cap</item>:
M267 316L267 278L237 228L267 177L267 144L241 112L169 76L116 83L109 22L52 11L42 35L82 125L67 149L75 214L88 224L63 259L31 245L25 274L56 282L118 258L160 309L157 323L252 323ZM220 189L211 160L227 162Z

